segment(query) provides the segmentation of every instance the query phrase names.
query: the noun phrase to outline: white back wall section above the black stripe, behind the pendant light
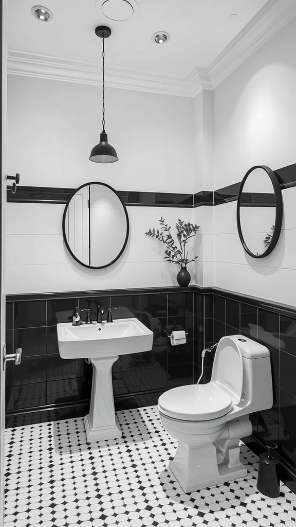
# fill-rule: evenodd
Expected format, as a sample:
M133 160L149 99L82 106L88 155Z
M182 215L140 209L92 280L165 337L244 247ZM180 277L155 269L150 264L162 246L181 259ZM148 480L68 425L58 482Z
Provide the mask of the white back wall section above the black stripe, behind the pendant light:
M9 170L22 185L193 191L192 100L106 88L106 132L119 161L88 160L100 140L99 86L8 75Z

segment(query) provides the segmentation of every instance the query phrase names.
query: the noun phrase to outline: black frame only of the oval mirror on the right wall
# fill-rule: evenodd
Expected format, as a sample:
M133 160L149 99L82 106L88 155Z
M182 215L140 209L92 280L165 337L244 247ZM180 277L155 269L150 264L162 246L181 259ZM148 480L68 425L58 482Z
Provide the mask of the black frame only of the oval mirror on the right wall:
M244 186L246 179L250 175L250 173L257 168L263 169L269 175L269 178L271 180L272 187L274 190L274 195L275 195L274 231L273 231L270 244L268 248L262 253L262 255L254 255L253 252L251 252L250 249L246 246L246 243L244 241L244 237L242 234L241 219L240 219L240 201L241 201L243 186ZM240 190L239 190L239 195L238 195L238 204L236 207L236 223L238 225L239 237L240 237L240 240L241 240L241 243L242 243L242 246L245 252L248 253L248 255L251 256L252 258L264 258L265 256L268 256L271 253L271 251L273 251L274 247L278 243L280 233L281 233L281 228L282 228L282 219L283 219L283 199L282 199L282 191L280 188L280 183L278 181L277 175L273 172L273 170L271 170L270 167L267 167L267 165L255 165L254 167L250 168L243 177Z

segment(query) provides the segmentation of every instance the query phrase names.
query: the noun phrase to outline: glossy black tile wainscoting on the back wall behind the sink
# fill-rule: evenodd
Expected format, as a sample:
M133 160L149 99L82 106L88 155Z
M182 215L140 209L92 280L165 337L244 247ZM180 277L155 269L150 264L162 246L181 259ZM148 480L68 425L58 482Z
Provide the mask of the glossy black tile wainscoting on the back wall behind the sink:
M61 359L56 324L67 322L76 306L90 307L95 319L98 303L104 308L104 318L108 307L115 307L113 318L135 316L154 333L151 352L124 355L114 364L116 409L155 404L167 388L194 382L191 288L14 295L7 298L7 353L22 347L23 356L21 365L6 365L8 427L88 413L92 366L84 359ZM164 333L167 326L186 329L187 343L171 346Z

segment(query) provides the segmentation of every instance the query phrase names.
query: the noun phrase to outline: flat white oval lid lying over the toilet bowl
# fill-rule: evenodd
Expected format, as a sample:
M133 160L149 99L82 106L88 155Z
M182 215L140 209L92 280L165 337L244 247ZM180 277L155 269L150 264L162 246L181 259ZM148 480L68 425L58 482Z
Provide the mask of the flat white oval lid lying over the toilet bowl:
M162 414L183 421L209 421L228 414L231 396L213 383L173 388L159 398Z

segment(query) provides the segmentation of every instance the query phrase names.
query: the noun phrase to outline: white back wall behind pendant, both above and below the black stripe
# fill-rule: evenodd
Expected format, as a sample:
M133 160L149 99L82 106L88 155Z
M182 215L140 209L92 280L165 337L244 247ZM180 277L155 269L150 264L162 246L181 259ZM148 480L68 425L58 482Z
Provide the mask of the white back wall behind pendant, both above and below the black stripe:
M106 131L119 161L88 160L101 132L97 86L8 76L9 173L25 186L75 188L102 181L117 190L193 192L192 100L129 90L106 90ZM6 293L177 285L176 266L145 237L163 216L192 221L193 210L129 207L130 239L111 267L89 270L63 246L64 206L7 206ZM194 267L191 266L192 274Z

